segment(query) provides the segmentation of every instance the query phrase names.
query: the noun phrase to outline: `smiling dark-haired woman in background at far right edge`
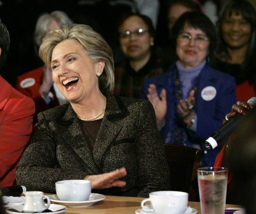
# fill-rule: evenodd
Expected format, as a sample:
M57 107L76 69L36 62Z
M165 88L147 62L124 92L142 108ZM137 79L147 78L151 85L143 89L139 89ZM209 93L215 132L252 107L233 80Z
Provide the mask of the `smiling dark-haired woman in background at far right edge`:
M212 67L232 75L237 100L256 95L256 14L245 0L228 1L218 21L218 49Z

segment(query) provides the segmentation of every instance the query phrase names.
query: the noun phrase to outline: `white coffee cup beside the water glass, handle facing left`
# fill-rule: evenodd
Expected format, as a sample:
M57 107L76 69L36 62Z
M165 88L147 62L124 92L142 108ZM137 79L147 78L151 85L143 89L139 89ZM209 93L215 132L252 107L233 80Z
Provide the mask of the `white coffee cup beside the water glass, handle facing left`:
M142 210L145 203L150 202L157 214L181 214L186 210L188 203L187 192L182 191L154 191L150 198L141 202Z

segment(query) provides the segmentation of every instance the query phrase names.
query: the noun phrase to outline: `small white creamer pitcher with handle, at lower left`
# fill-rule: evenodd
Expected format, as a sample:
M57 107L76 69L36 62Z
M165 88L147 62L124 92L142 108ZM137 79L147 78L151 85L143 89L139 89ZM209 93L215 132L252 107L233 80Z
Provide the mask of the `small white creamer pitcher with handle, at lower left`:
M42 212L49 208L51 200L48 196L44 196L42 191L26 191L24 192L25 204L23 207L24 212ZM44 199L47 199L45 204Z

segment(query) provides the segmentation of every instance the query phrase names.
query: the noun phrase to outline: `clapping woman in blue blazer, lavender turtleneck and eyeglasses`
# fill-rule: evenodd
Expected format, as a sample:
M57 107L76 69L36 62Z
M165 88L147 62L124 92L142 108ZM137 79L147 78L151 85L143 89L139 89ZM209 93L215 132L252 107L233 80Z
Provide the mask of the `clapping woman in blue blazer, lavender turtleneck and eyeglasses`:
M152 102L165 143L200 148L202 166L212 166L220 148L206 151L204 141L236 102L236 83L207 63L215 49L216 31L204 14L181 15L172 29L172 44L176 62L167 73L144 82L142 97Z

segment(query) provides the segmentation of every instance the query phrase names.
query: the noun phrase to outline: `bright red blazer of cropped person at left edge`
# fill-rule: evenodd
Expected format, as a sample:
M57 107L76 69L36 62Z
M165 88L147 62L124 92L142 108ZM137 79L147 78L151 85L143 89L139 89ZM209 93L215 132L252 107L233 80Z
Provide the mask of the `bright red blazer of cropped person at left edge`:
M15 184L15 169L32 132L34 102L0 76L0 187Z

